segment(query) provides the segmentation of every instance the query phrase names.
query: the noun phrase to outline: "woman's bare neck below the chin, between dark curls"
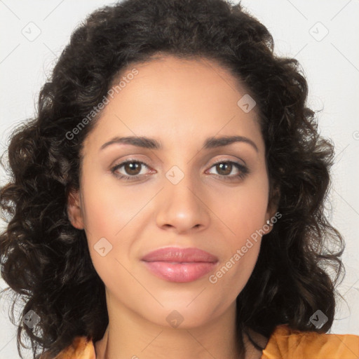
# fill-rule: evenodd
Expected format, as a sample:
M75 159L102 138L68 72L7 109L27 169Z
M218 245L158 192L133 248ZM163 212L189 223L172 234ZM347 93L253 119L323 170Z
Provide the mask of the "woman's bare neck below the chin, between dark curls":
M236 303L222 316L196 327L158 325L118 302L116 306L111 306L111 301L108 304L109 325L95 343L96 359L259 359L262 355L245 335L245 358L239 355ZM255 339L255 333L251 334Z

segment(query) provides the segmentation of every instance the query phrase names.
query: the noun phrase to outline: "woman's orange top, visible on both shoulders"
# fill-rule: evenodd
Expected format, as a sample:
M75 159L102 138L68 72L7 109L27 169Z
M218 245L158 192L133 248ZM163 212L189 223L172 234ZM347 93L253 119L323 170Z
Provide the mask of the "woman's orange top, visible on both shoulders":
M44 357L41 357L45 359ZM278 325L269 337L261 359L358 359L359 336L300 332ZM54 359L96 359L93 341L76 337Z

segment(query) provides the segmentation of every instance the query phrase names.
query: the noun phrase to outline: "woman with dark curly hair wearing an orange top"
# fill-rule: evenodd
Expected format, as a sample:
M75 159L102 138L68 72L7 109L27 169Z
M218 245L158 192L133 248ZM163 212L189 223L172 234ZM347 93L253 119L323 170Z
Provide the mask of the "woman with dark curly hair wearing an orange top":
M298 65L224 0L127 0L76 29L0 193L34 358L358 356L325 334L344 243Z

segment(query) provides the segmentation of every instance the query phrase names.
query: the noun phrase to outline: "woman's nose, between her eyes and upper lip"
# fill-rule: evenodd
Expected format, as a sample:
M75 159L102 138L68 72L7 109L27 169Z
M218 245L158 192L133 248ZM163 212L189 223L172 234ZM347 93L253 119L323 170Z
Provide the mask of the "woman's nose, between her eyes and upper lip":
M203 191L194 189L189 176L177 184L170 182L158 196L156 224L176 233L193 233L208 227L210 209Z

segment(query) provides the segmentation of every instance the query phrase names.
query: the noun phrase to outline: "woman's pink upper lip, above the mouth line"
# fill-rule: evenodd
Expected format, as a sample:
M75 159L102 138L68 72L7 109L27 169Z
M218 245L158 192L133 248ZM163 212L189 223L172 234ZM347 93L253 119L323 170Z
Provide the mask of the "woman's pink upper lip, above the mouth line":
M142 257L145 262L218 262L215 255L198 248L167 247L154 250Z

